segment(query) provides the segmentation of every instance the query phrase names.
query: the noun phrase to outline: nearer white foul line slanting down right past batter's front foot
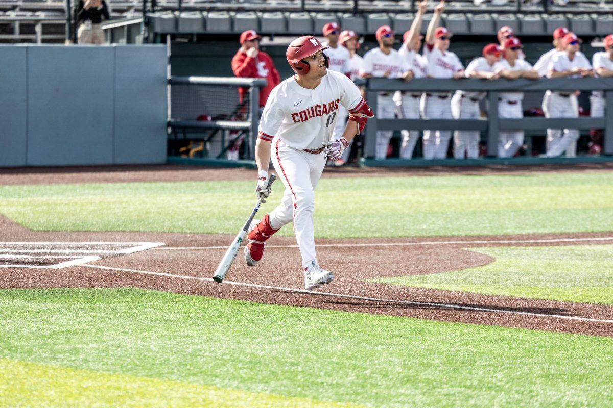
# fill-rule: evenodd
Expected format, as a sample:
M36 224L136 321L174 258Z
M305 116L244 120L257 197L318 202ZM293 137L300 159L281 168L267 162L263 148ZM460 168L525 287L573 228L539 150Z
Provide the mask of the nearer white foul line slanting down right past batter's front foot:
M170 278L192 279L192 280L213 282L212 278L200 278L199 276L175 275L173 273L150 272L150 271L147 271L147 270L113 268L113 267L102 266L102 265L82 265L82 266L85 266L85 267L88 267L88 268L119 270L119 271L122 271L122 272L143 273L145 275L169 276ZM402 303L403 305L435 306L435 307L450 308L450 309L476 310L476 311L486 311L486 312L494 312L494 313L524 314L524 315L527 315L527 316L539 316L539 317L554 317L556 319L570 319L570 320L579 320L579 321L584 321L584 322L613 323L613 320L588 319L587 317L563 316L562 314L542 314L542 313L520 312L520 311L514 311L514 310L498 310L498 309L488 309L488 308L477 308L477 307L473 307L473 306L449 305L449 304L446 304L446 303L411 302L409 300L379 299L379 298L375 298L375 297L365 297L365 296L356 296L356 295L344 295L344 294L340 294L340 293L329 293L329 292L311 292L311 291L307 291L305 289L294 289L292 287L268 286L268 285L260 285L260 284L255 284L255 283L235 282L235 281L226 281L226 280L224 280L223 283L224 284L233 284L233 285L238 285L238 286L261 287L263 289L276 289L278 291L297 292L297 293L305 293L305 294L310 294L310 295L332 296L332 297L343 297L343 298L348 298L348 299L369 300L371 302ZM218 284L218 283L216 283L216 284Z

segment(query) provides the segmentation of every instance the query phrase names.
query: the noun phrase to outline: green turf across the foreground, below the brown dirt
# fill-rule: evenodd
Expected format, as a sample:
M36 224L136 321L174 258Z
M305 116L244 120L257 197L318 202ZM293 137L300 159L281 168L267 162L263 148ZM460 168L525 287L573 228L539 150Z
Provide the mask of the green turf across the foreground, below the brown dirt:
M64 396L77 406L170 405L158 385L180 397L174 406L218 406L215 398L248 406L240 398L251 393L264 393L270 406L291 405L289 398L370 407L613 406L607 337L140 289L2 290L0 321L0 406L27 400L32 388L32 406L64 406ZM225 388L235 391L224 398Z

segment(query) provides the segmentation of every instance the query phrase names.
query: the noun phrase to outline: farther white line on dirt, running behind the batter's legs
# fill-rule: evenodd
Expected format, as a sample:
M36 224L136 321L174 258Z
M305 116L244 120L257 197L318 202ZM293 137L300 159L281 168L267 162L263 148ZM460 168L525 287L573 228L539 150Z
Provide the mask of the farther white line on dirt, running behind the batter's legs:
M473 240L473 241L424 241L424 242L371 242L371 243L319 243L319 247L403 247L411 245L456 245L473 243L552 243L552 242L586 242L613 241L613 237L594 238L558 238L558 239L525 239L525 240ZM295 248L297 245L267 245L267 248ZM225 250L227 245L216 247L163 247L154 250Z

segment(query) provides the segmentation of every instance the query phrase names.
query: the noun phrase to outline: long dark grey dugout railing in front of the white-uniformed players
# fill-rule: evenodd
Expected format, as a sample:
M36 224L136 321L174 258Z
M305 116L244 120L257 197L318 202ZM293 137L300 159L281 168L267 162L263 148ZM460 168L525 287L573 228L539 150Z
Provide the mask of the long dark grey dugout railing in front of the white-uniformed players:
M359 81L360 83L360 81ZM573 128L573 129L603 129L603 155L613 155L613 114L610 113L613 106L613 78L543 78L539 80L479 80L466 78L460 80L441 80L434 78L421 78L412 81L402 81L387 78L371 78L362 81L365 84L366 100L373 112L377 112L378 92L455 92L463 91L487 92L488 115L482 119L379 119L375 117L368 120L365 129L364 156L375 156L377 130L478 130L487 133L487 157L497 156L498 134L500 130L543 130L547 128ZM577 117L577 118L545 118L524 117L522 119L503 119L498 117L498 98L500 92L544 92L555 91L604 91L606 106L609 106L609 114L604 117ZM524 106L525 108L525 106ZM493 114L492 114L493 113ZM476 159L482 161L483 159ZM517 158L504 159L517 162ZM554 160L554 159L541 159ZM578 159L576 159L579 161ZM613 157L605 158L613 161ZM387 161L387 164L386 164ZM369 165L408 165L422 163L422 165L435 164L436 162L453 161L462 163L462 160L421 160L421 159L395 159L367 160ZM474 160L470 160L474 161ZM466 162L466 161L464 161Z

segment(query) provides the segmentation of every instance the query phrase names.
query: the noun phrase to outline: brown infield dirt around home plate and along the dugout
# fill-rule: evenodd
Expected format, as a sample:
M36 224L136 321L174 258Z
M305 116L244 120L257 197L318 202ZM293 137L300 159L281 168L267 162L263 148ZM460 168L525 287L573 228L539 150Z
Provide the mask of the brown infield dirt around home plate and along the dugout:
M533 174L535 171L613 171L613 165L577 165L543 167L487 166L485 168L428 169L327 169L324 177L424 176L429 174ZM83 182L143 182L179 180L253 179L254 171L245 169L211 169L182 166L114 166L84 168L3 169L0 185L53 184ZM164 242L166 247L134 254L109 256L89 265L211 278L234 236L212 234L175 234L151 232L40 232L29 231L0 216L4 242ZM519 327L585 335L613 336L613 323L579 319L612 320L613 306L558 302L468 292L440 291L416 287L372 283L367 280L390 276L421 275L466 269L493 261L485 254L468 250L474 247L594 245L599 237L613 237L613 232L573 234L526 234L514 236L414 237L386 239L318 239L321 265L335 273L330 285L316 289L317 294L292 292L303 289L300 255L292 237L274 236L268 241L264 259L248 267L239 253L226 281L275 286L275 288L218 284L172 276L98 269L77 265L64 269L0 269L2 288L40 287L139 287L180 294L221 299L247 300L290 306L308 306L388 316L416 317L444 322ZM563 242L529 243L525 240L565 239ZM576 241L576 239L582 239ZM587 239L587 240L585 240ZM590 240L595 239L595 240ZM513 242L497 242L519 241ZM476 243L474 241L485 241ZM439 242L439 243L435 243ZM357 246L355 244L394 243L396 245ZM323 246L349 244L348 246ZM397 245L405 244L405 245ZM408 244L408 245L406 245ZM193 248L177 249L172 248ZM352 295L355 299L326 295ZM384 299L379 301L373 299ZM405 303L401 303L405 302ZM414 302L414 303L409 303ZM458 306L460 308L454 308ZM246 304L246 307L247 304ZM473 308L473 309L468 309ZM474 310L487 309L487 310ZM501 313L512 311L519 313ZM555 316L535 316L555 315Z

